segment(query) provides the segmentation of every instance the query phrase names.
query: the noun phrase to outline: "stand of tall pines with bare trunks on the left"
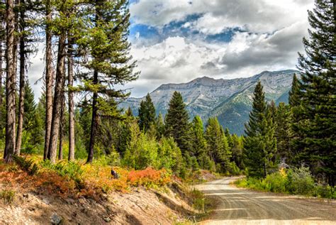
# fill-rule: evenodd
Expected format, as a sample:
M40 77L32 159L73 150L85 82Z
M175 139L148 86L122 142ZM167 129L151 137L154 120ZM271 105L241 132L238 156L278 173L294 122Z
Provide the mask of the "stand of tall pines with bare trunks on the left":
M4 159L10 162L14 154L43 142L44 159L55 163L57 150L62 158L62 141L67 133L67 158L74 160L79 141L76 136L83 132L83 136L89 136L86 149L87 162L91 163L100 120L116 116L115 99L128 96L116 85L138 77L129 55L128 1L8 0L1 1L0 6ZM45 46L45 71L43 75L41 72L44 89L35 106L27 69L30 56L41 45ZM75 94L79 101L84 99L83 106L75 108ZM84 131L76 131L83 111L91 111L86 118L89 122L83 126Z

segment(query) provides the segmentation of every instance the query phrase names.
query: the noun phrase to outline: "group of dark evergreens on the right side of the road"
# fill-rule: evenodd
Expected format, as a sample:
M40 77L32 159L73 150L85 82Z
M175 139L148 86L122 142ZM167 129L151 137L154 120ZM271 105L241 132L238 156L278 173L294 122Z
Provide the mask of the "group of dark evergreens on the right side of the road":
M266 177L279 163L310 168L315 180L335 186L336 45L335 1L319 0L309 11L310 38L303 38L300 77L293 77L289 105L267 104L262 85L254 89L245 133L245 165L252 177Z

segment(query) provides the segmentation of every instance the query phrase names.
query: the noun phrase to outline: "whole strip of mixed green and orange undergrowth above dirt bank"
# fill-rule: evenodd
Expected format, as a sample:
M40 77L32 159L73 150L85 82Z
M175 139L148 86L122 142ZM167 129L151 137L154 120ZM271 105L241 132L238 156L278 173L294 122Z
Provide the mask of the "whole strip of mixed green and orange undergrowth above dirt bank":
M171 182L166 170L126 170L101 165L100 162L84 164L84 161L61 160L55 164L30 156L13 158L13 163L0 160L0 182L6 186L30 187L35 192L47 190L61 197L91 197L99 199L111 191L128 192L132 187L157 188ZM113 179L111 169L119 178Z

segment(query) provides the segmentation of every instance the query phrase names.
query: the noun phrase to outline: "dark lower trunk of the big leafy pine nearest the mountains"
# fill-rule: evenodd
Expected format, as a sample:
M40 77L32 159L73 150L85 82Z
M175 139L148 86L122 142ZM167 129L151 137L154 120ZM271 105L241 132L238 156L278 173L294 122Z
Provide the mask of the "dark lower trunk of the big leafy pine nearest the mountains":
M94 84L98 84L98 72L94 71ZM94 92L94 96L92 98L92 118L91 118L91 133L90 133L90 143L89 143L89 155L86 163L92 163L94 160L94 143L96 136L96 126L97 126L97 98L98 94Z

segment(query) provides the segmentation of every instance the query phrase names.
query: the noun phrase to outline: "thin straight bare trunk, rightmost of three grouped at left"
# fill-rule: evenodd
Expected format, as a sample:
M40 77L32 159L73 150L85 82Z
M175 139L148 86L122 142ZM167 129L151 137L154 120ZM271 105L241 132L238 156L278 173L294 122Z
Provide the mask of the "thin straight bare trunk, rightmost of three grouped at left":
M71 41L71 40L70 40ZM72 60L72 44L68 50L68 85L69 85L69 158L74 160L74 92L71 90L74 84L74 62Z

